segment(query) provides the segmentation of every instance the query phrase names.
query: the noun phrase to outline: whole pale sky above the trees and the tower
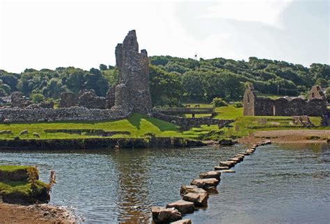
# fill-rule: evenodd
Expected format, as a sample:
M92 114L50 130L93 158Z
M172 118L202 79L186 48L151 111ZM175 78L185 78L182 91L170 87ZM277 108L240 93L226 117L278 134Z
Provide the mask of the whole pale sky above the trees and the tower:
M148 55L330 64L329 0L0 0L0 70L115 65L135 29Z

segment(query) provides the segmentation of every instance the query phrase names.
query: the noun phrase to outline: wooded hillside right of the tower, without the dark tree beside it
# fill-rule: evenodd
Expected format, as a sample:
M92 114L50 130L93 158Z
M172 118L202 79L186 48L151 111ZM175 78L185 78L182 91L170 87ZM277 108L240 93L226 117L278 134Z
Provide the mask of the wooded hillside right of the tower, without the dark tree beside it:
M253 83L260 93L272 95L299 95L313 85L330 85L330 66L318 63L308 68L256 57L249 61L225 58L196 61L171 56L151 56L150 63L177 74L182 82L183 101L210 102L214 97L227 102L242 100L246 82Z

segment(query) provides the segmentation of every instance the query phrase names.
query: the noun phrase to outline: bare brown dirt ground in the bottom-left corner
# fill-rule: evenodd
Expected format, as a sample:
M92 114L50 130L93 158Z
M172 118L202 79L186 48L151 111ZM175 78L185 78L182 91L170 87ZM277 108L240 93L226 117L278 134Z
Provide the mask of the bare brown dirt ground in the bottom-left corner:
M0 223L74 223L74 218L61 207L10 205L0 201Z

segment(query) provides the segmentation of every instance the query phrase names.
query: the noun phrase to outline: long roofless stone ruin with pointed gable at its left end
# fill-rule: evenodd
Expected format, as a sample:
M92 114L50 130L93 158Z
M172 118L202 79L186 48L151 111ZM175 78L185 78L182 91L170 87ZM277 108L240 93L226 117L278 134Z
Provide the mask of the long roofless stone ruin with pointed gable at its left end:
M243 103L244 115L250 116L322 116L327 113L327 101L325 97L314 97L308 100L301 98L269 99L266 97L257 97L256 93L254 93L253 86L246 88Z

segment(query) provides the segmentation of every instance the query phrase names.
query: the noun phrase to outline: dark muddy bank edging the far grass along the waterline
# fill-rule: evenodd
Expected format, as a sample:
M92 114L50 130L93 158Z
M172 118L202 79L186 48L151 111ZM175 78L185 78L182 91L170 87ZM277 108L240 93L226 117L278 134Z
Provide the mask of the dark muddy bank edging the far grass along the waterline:
M205 143L186 138L76 138L76 139L3 139L3 150L61 150L100 148L196 147Z

